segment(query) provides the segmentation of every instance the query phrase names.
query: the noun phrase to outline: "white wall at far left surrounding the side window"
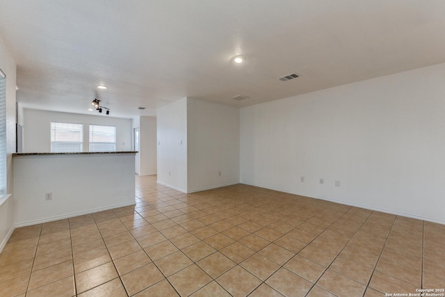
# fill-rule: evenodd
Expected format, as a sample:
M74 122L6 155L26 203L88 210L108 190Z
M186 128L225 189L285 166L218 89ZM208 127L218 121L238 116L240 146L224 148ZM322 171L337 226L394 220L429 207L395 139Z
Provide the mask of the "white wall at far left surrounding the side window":
M6 166L7 191L10 195L6 200L0 201L0 252L14 231L14 197L13 197L13 160L15 152L15 77L16 65L8 53L6 45L0 38L0 68L6 74Z

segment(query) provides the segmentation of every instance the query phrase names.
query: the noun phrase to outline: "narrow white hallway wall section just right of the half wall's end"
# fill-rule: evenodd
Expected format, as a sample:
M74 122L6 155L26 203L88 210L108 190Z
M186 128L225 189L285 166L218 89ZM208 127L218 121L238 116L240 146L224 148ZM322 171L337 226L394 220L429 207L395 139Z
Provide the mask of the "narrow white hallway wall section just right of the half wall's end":
M140 117L139 175L156 175L156 117Z

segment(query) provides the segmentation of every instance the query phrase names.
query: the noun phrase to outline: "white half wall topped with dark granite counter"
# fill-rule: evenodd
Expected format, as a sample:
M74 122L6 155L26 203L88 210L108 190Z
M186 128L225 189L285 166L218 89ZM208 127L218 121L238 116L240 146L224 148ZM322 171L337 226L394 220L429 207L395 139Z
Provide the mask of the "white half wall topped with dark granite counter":
M135 154L13 154L15 227L134 204Z

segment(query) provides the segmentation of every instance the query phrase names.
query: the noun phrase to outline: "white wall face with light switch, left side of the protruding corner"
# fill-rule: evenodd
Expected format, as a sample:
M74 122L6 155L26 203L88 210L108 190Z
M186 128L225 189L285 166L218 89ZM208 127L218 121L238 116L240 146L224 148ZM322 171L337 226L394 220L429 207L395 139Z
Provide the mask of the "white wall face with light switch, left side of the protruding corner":
M157 110L159 184L187 191L187 98Z

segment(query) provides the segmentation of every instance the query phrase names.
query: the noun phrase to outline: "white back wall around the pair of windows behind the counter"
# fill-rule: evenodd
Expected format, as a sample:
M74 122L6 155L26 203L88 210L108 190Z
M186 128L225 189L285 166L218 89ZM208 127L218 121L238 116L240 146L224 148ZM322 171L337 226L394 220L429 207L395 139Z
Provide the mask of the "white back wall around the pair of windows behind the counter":
M83 152L88 152L88 125L90 124L116 126L116 150L118 152L132 150L131 119L24 109L23 152L51 152L51 122L83 124Z

